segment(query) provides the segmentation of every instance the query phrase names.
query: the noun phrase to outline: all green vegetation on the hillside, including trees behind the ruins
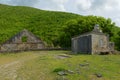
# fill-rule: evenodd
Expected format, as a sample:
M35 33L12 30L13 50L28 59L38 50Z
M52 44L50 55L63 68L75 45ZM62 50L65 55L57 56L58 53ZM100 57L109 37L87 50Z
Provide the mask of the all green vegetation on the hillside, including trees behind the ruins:
M21 30L28 29L46 46L70 48L72 37L91 31L95 24L109 34L115 48L120 50L120 28L110 18L0 4L0 44Z

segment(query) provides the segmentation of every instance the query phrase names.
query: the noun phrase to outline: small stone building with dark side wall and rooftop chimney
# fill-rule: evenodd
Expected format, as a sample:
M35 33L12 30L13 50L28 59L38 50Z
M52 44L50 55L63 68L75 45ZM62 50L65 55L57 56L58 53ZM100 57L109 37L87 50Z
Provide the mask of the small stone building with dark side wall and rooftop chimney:
M72 38L73 53L108 54L114 52L114 43L95 25L93 31Z

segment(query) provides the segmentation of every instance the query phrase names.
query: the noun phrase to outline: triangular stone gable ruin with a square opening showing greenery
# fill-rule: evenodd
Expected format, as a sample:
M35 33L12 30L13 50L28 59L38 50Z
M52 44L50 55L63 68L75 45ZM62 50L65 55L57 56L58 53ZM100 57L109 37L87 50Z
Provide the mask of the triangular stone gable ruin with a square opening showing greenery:
M0 52L15 52L44 49L44 43L28 30L24 29L0 46Z

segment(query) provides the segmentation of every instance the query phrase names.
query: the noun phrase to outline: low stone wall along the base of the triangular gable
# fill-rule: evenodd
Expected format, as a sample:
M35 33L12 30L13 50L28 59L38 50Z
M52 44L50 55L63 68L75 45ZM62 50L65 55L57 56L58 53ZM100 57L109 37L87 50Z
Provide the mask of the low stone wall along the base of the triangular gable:
M1 46L1 52L14 52L25 50L40 50L44 49L44 45L41 43L10 43L3 44Z

